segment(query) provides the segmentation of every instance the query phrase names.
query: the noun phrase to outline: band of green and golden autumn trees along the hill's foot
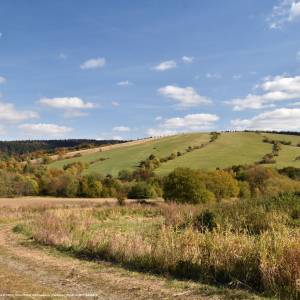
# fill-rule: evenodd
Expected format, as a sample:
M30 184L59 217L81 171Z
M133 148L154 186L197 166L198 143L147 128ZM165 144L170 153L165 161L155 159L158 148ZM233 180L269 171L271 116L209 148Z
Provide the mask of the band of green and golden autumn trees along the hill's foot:
M151 157L152 158L152 157ZM300 193L300 171L279 171L259 165L233 166L206 172L178 168L166 177L145 165L123 170L117 177L84 174L87 165L74 162L63 169L10 160L0 163L0 196L114 197L147 199L163 197L180 203L220 202L228 198L255 198Z

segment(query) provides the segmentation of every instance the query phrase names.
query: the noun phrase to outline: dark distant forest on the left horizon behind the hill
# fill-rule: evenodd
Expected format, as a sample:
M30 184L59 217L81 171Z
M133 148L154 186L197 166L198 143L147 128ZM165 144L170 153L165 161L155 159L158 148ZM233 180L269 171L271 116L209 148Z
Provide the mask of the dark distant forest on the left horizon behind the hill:
M80 150L122 142L125 141L94 139L0 141L0 153L2 153L2 155L5 154L8 156L18 156L37 151L51 153L58 148L72 148L74 150Z

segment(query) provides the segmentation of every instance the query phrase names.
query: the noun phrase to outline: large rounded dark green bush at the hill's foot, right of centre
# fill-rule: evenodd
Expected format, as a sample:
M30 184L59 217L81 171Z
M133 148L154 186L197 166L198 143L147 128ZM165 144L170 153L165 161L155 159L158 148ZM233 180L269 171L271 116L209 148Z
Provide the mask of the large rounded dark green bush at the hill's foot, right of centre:
M163 197L167 201L179 203L205 203L214 200L214 194L208 191L199 173L187 168L178 168L164 181Z

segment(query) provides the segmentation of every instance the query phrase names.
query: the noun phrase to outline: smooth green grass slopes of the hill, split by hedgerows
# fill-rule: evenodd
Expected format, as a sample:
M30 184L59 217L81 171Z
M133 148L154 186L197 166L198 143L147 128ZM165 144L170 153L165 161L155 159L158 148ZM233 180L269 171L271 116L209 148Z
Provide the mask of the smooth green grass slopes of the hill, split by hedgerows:
M300 156L300 147L296 146L300 142L300 137L252 132L222 133L217 140L211 143L209 143L209 133L181 134L140 145L56 161L50 164L50 167L62 168L68 163L83 161L89 163L87 173L117 175L120 170L133 170L140 161L145 160L150 154L163 158L178 151L186 152L189 146L194 147L205 144L201 149L195 149L174 160L162 163L156 169L156 172L165 175L176 167L213 170L260 161L265 154L272 152L272 144L264 143L264 137L292 142L289 146L282 145L282 150L279 152L279 156L276 157L276 163L269 166L300 168L300 160L295 160L296 157Z

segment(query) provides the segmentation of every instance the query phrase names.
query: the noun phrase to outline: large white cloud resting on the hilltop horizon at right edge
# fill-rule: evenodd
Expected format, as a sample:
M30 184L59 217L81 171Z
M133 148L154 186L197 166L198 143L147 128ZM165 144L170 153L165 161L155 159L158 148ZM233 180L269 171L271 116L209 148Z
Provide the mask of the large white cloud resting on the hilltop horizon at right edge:
M300 130L299 120L299 108L279 108L251 119L232 120L231 124L237 130Z

